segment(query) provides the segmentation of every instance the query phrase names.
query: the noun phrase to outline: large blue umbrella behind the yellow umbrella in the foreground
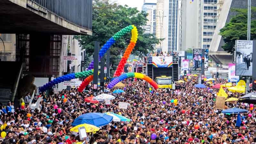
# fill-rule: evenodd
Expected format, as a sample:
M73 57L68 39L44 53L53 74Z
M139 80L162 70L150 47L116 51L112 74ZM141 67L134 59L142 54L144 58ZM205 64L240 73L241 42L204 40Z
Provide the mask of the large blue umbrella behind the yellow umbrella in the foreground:
M113 120L113 116L109 116L103 113L87 113L77 117L72 126L79 124L92 124L97 127L107 125Z

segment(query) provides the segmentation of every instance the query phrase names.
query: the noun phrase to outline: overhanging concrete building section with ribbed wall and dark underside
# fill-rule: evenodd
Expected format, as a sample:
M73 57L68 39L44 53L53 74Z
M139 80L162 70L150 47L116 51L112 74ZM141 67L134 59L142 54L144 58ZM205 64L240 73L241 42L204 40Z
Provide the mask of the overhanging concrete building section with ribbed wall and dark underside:
M0 33L92 35L92 0L0 0Z

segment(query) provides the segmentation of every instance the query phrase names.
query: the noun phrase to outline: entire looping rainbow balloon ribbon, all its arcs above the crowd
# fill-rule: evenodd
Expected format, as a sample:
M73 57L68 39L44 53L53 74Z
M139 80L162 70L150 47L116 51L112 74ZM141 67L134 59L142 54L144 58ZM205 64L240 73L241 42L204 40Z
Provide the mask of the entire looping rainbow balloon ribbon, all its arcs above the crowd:
M158 85L156 84L156 82L154 82L151 78L149 78L148 76L145 76L143 74L140 73L126 73L126 74L122 74L122 70L124 69L124 65L127 61L127 59L129 58L132 49L134 48L136 42L137 42L137 38L138 38L138 30L134 25L130 25L127 26L123 29L121 29L120 31L118 31L114 36L112 36L107 42L106 44L103 45L103 47L100 49L99 52L99 61L100 59L105 55L105 53L107 52L107 50L121 37L124 36L125 34L127 34L128 32L132 33L131 36L131 41L130 44L128 45L128 47L126 48L125 52L124 52L124 56L122 57L122 59L120 60L118 67L116 69L116 72L114 74L114 76L118 76L116 77L114 80L115 81L111 81L111 85L115 84L116 81L122 79L124 80L125 77L129 78L129 77L136 77L136 78L140 78L140 79L144 79L146 80L149 84L151 84L155 89L158 88ZM89 67L87 68L88 70L83 71L83 72L77 72L77 73L71 73L71 74L67 74L64 76L60 76L57 77L55 79L53 79L52 81L48 82L47 84L44 84L43 87L39 88L40 92L43 92L45 90L51 89L52 86L54 86L55 84L64 82L64 81L69 81L71 79L75 79L75 78L85 78L84 81L82 82L82 84L78 87L78 91L82 92L84 90L84 88L93 80L93 60L90 63ZM128 75L127 75L128 74ZM121 75L121 76L120 76ZM121 81L121 80L120 80ZM116 84L115 84L116 85ZM114 85L113 85L114 86ZM113 87L112 86L112 87ZM111 86L109 86L110 88Z

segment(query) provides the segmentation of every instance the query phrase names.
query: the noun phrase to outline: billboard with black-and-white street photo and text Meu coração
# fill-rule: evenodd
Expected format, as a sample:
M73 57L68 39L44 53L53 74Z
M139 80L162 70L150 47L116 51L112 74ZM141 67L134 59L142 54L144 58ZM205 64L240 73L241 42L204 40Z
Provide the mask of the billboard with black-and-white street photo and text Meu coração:
M236 40L236 76L252 76L252 41Z

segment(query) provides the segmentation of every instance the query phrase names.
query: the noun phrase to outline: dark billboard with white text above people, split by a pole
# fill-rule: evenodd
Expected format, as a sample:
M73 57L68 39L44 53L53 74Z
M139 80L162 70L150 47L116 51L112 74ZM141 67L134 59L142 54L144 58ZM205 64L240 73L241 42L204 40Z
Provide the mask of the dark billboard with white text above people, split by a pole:
M201 70L202 67L202 50L193 49L193 70ZM204 49L204 70L208 70L209 50Z

